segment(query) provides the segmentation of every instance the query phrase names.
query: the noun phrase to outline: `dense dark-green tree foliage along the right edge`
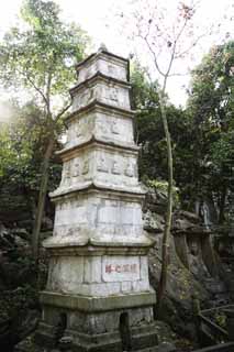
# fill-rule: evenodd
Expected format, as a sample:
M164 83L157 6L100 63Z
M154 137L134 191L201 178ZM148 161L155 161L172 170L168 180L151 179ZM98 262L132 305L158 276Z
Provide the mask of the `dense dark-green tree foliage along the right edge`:
M229 184L223 163L234 157L234 42L213 46L192 73L187 113L193 133L194 193L218 200L221 218Z

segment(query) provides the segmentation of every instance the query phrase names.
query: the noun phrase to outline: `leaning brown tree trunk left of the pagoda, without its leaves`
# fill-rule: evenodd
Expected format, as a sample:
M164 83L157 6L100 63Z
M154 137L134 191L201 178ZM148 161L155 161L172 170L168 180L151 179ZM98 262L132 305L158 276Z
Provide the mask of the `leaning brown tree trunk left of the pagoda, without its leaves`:
M38 258L38 240L40 240L40 231L42 227L43 220L43 211L45 206L45 198L47 193L47 184L48 184L48 167L49 167L49 160L54 151L54 138L52 136L48 140L48 144L45 151L44 161L42 164L42 180L40 185L40 195L38 195L38 202L36 209L36 218L34 221L33 227L33 235L32 235L32 253L34 260L37 262Z

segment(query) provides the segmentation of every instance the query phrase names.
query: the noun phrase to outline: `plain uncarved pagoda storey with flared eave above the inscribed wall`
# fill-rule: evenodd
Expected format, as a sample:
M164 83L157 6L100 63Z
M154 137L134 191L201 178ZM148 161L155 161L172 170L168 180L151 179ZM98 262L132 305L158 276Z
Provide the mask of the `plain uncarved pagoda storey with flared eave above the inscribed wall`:
M142 195L89 189L55 199L54 246L149 246L143 231Z

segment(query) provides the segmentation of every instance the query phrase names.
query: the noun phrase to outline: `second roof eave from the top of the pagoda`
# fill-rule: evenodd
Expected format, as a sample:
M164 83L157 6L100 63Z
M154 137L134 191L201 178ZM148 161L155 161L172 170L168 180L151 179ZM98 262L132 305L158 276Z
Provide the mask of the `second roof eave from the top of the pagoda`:
M121 80L121 79L116 79L116 78L113 78L111 76L107 76L107 75L103 75L102 73L100 72L97 72L92 77L88 78L87 80L78 84L77 86L73 87L69 92L70 92L70 96L71 98L75 96L75 94L77 91L79 91L80 89L82 89L83 87L85 88L88 88L90 87L93 82L96 81L100 81L100 80L103 80L105 82L114 82L119 86L122 86L122 87L125 87L127 89L131 89L132 85L125 80Z

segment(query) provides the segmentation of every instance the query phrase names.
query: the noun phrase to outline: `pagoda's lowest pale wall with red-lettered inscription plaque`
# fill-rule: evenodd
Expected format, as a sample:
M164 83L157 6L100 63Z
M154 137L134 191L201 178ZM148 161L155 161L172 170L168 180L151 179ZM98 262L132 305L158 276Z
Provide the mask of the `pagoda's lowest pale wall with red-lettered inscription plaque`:
M149 292L145 256L56 256L47 290L81 296Z

